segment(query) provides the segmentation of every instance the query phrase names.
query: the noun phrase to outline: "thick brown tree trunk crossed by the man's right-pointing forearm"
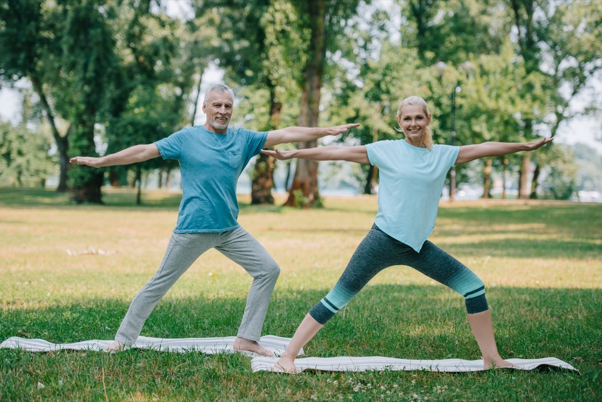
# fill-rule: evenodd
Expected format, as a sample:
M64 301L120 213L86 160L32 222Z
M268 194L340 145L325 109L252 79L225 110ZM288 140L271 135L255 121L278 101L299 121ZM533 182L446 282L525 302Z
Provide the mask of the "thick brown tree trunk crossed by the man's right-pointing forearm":
M312 0L308 5L311 39L308 49L308 61L303 70L301 110L299 126L316 127L320 114L320 89L324 75L326 58L326 0ZM318 141L298 143L299 149L313 148ZM293 184L288 193L286 206L321 206L318 191L318 162L299 159L293 178Z

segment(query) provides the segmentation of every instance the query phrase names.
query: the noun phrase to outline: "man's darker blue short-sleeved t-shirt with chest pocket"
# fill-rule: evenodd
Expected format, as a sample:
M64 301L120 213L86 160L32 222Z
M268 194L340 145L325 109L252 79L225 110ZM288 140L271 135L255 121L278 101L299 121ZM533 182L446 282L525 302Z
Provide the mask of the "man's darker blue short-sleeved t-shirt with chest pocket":
M163 159L177 159L182 202L175 233L226 232L240 226L236 184L261 152L267 131L228 128L226 134L194 126L155 142Z

